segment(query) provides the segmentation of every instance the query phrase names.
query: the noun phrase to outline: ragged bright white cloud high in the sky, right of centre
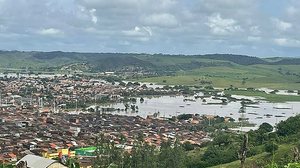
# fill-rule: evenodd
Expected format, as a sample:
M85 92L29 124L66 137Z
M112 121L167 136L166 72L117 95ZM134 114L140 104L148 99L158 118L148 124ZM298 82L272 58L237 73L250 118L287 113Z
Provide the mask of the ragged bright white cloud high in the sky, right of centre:
M216 35L228 35L243 30L236 20L223 19L219 13L209 16L206 25Z

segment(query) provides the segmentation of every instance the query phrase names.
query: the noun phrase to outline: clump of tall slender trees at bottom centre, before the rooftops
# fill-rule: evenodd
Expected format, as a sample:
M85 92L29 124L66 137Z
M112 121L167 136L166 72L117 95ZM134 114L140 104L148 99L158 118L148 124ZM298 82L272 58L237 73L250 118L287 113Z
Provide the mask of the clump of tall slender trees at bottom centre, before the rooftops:
M118 147L101 134L96 138L97 150L94 160L96 168L185 168L186 155L178 141L162 142L159 148L138 138L131 151L123 145Z

